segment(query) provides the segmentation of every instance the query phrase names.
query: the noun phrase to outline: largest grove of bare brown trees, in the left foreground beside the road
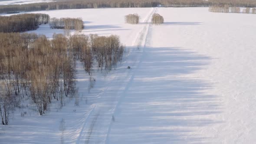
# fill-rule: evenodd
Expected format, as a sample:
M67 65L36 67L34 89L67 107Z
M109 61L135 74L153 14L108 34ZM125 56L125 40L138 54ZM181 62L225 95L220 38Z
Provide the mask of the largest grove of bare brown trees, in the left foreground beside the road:
M52 101L75 92L75 63L90 74L93 62L110 70L121 60L124 46L118 36L0 33L0 115L7 125L21 98L29 98L40 115Z

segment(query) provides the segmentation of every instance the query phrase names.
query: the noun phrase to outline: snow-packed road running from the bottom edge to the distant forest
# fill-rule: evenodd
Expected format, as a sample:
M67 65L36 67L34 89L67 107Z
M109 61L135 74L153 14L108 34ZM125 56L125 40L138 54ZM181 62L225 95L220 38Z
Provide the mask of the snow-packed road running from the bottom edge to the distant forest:
M111 131L111 125L113 122L112 116L115 116L122 99L125 97L126 92L129 89L129 85L131 85L134 79L136 69L141 63L141 59L144 55L144 46L150 26L151 16L156 10L157 8L152 8L148 13L148 16L144 18L144 26L142 30L136 36L133 46L128 47L129 53L128 56L126 56L126 61L119 65L119 67L122 68L117 68L115 72L109 72L107 74L107 82L105 83L107 87L97 95L98 100L93 104L94 107L85 118L76 144L108 144L108 134ZM134 49L134 47L136 49ZM131 65L132 69L125 69L127 65ZM111 88L109 88L109 86L111 86ZM113 87L116 87L115 91L112 90ZM111 102L106 103L106 101Z

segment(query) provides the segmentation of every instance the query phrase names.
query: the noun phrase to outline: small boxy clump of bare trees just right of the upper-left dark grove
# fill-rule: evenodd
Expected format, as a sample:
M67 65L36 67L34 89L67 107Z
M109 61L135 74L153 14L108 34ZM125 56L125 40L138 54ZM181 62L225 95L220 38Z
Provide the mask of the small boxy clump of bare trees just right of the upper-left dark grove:
M84 28L82 18L51 18L49 21L51 29L75 29L82 30Z

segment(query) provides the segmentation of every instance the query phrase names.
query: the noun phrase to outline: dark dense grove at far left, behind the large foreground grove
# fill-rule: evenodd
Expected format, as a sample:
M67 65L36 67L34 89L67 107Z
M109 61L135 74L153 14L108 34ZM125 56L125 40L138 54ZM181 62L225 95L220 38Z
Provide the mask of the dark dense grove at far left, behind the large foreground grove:
M34 30L49 21L49 15L43 13L26 13L12 16L0 16L0 32L25 32Z

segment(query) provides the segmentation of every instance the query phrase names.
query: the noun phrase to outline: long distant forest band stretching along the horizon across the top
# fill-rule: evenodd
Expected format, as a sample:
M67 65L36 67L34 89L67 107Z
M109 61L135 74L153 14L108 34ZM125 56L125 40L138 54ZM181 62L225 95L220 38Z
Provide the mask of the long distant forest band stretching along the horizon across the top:
M17 11L87 9L104 7L256 7L256 0L64 0L50 3L30 3L0 6L0 13Z

